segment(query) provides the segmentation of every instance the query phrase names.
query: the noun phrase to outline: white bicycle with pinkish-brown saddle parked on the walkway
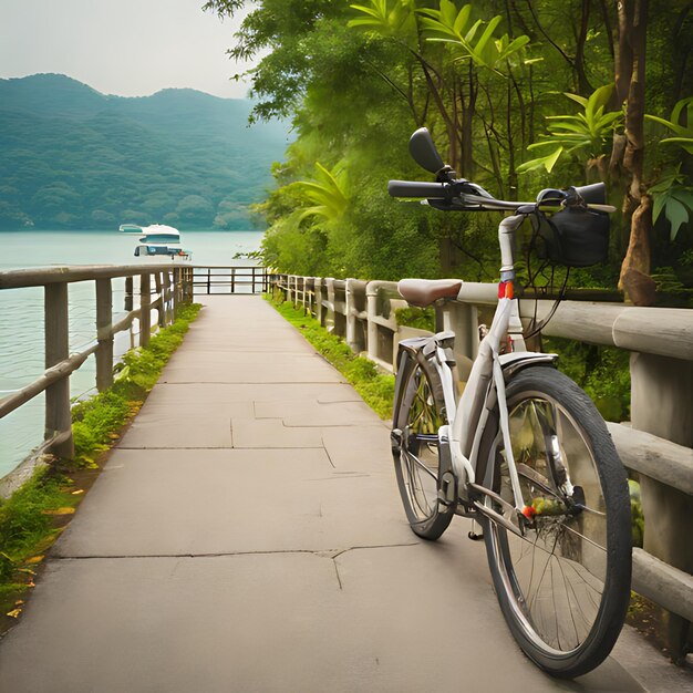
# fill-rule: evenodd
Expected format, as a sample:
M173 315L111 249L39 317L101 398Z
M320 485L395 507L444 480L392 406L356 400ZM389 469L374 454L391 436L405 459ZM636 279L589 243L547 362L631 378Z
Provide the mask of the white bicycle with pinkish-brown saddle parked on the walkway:
M426 539L437 539L454 515L477 520L518 644L545 671L578 676L604 660L625 618L627 476L599 412L556 370L557 356L524 350L514 238L526 218L546 220L545 211L554 210L545 252L568 265L593 263L606 251L606 213L613 208L603 204L602 184L542 190L536 203L497 200L456 178L425 128L414 133L410 151L437 183L391 180L393 197L425 198L442 210L514 214L498 228L498 308L462 396L453 332L400 343L392 451L406 517ZM405 279L399 290L425 307L455 299L459 287L457 280Z

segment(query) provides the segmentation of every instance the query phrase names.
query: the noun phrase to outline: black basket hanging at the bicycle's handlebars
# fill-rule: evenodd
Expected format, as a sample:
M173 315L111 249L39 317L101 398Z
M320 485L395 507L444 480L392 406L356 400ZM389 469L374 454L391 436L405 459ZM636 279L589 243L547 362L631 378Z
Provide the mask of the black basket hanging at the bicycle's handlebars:
M537 255L566 267L603 262L609 254L609 215L582 206L566 207L552 216L539 215Z

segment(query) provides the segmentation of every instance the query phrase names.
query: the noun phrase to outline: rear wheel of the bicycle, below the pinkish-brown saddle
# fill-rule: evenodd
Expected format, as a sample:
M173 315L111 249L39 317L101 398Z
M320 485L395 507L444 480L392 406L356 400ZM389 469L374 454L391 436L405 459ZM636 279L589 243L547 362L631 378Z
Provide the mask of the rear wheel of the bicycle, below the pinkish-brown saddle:
M395 475L410 527L417 536L436 540L455 515L454 505L438 499L441 477L447 470L438 445L438 428L449 423L437 372L414 360L405 361L401 396L393 428L401 432L393 447Z

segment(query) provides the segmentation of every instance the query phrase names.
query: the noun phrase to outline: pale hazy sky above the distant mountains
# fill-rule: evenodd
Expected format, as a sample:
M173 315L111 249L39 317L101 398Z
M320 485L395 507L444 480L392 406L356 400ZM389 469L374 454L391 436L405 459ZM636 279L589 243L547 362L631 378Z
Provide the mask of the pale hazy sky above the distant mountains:
M168 86L246 96L225 54L240 21L204 0L0 0L0 77L58 72L105 94Z

